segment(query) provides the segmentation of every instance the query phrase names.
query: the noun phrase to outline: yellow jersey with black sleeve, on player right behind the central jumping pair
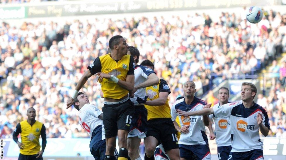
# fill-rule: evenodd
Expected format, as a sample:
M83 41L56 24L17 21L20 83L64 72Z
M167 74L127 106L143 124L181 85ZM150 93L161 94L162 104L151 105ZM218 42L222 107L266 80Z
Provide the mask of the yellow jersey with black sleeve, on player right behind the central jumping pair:
M160 92L168 92L171 93L168 83L160 79L158 85L146 87L146 92L148 95L147 101L152 101L154 99L159 98ZM148 110L147 120L157 119L157 118L171 118L171 108L169 106L169 100L167 99L166 103L162 106L148 106L145 105Z

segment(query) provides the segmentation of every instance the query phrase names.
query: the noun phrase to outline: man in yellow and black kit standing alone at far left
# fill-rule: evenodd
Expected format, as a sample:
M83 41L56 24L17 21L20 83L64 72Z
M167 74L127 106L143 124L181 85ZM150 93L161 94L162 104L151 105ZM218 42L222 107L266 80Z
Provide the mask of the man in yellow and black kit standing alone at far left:
M42 154L47 144L46 127L35 119L35 108L28 108L27 116L28 119L18 123L13 133L13 140L20 148L18 159L42 160ZM21 142L18 141L19 133L21 133ZM40 150L40 135L42 137L42 150Z

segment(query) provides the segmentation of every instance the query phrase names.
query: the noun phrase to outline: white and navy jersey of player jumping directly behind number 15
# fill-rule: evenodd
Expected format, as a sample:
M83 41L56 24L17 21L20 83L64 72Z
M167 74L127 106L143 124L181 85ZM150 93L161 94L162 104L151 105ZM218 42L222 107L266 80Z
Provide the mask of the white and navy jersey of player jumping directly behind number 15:
M151 68L136 65L134 70L134 86L137 86L148 79L151 73L155 73ZM146 88L140 88L134 93L134 97L130 98L134 105L139 105L140 103L145 103L148 96L146 94Z

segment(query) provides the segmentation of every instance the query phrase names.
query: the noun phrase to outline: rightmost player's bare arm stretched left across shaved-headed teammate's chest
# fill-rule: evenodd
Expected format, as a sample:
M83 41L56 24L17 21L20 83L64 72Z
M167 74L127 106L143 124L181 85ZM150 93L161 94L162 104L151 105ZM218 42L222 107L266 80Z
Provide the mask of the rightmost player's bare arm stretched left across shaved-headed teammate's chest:
M194 111L194 112L186 112L186 111L183 111L183 110L179 110L179 109L176 109L176 113L178 113L178 115L180 116L184 116L186 119L188 116L194 116L194 115L210 115L210 114L213 114L214 113L214 109L213 108L209 108L212 104L207 104L205 105L205 109L202 109L202 110L198 110L198 111Z

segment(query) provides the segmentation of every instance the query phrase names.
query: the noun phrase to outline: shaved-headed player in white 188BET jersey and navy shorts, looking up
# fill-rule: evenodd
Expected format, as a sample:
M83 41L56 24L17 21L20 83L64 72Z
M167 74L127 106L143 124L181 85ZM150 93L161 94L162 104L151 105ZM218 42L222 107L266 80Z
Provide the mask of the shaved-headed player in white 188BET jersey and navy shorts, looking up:
M187 81L183 86L184 98L177 100L172 108L172 121L178 132L181 132L179 147L181 160L185 159L211 159L205 126L209 126L208 116L189 116L184 119L176 113L176 109L186 112L202 110L207 103L194 96L196 85L193 81ZM176 122L179 116L181 127Z

